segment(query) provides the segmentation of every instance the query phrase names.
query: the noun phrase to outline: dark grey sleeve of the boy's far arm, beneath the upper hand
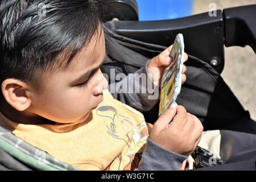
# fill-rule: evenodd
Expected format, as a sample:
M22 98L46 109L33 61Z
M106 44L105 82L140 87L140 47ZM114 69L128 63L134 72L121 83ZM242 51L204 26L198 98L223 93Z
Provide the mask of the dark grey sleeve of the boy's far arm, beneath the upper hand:
M137 72L123 77L121 81L109 84L109 92L116 100L139 111L150 110L160 96L159 86L148 75L147 64Z

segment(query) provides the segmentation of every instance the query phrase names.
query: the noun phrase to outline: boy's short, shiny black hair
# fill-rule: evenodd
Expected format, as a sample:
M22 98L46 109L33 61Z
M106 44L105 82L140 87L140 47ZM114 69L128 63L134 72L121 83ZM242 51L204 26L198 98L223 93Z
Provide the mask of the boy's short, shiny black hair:
M0 81L36 84L39 73L64 53L67 66L101 26L104 1L1 0Z

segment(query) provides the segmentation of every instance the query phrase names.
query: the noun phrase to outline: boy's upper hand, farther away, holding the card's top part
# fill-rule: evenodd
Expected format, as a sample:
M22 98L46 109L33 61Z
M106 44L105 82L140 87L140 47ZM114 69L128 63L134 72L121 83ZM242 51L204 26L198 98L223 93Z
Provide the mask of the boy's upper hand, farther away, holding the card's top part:
M152 81L156 82L158 85L161 84L162 76L164 69L168 65L171 64L172 57L170 57L172 46L165 49L163 52L161 52L158 56L155 56L151 59L150 63L147 65L148 73L152 74ZM187 53L184 53L184 62L188 60ZM186 67L183 65L182 68L182 84L186 81L187 77L185 75Z

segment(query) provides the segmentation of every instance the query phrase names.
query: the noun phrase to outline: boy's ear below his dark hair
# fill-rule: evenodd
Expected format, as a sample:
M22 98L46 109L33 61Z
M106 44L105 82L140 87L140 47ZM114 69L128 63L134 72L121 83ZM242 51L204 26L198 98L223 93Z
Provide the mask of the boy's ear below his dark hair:
M25 82L7 78L2 82L1 89L5 100L16 110L24 111L31 105L30 89Z

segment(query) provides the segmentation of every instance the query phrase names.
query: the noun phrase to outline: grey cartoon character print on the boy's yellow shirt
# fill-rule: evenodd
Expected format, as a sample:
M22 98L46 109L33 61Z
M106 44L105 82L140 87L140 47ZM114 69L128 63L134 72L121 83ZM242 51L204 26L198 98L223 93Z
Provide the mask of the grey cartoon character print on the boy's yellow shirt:
M120 106L123 108L101 106L96 111L98 116L111 119L111 122L106 125L108 134L125 142L125 148L121 154L105 170L132 170L137 168L148 137L143 115L139 115L141 113L125 104Z

